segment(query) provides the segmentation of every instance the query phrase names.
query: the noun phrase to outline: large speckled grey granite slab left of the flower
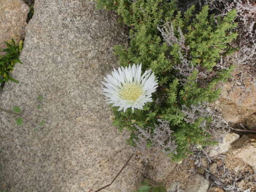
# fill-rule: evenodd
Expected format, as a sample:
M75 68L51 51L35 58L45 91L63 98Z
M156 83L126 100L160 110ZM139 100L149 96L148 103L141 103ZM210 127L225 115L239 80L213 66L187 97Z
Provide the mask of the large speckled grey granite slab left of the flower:
M111 126L101 81L114 66L113 45L125 43L113 14L89 0L37 0L26 27L23 65L6 83L0 106L25 108L33 122L17 127L0 113L1 187L9 191L89 191L107 185L132 150ZM36 98L43 95L42 109ZM139 166L139 165L138 165ZM134 158L102 191L133 191L140 181Z

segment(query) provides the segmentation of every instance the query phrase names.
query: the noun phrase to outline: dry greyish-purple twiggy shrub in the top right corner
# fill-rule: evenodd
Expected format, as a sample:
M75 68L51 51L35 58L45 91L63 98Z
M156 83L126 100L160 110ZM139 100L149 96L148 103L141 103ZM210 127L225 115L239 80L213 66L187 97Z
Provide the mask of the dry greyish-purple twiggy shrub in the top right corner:
M236 55L239 65L251 66L250 71L255 71L256 58L256 4L251 0L211 0L209 1L211 9L218 10L220 15L226 15L230 10L237 10L236 21L238 26L236 31L239 34L236 43L239 46L239 52Z

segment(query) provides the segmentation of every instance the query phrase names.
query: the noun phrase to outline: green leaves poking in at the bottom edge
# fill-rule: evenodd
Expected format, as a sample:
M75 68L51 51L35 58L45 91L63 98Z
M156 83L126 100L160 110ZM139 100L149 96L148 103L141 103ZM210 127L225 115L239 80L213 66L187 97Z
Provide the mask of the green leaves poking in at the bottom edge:
M141 187L136 192L166 192L166 188L163 184L145 179L141 183Z

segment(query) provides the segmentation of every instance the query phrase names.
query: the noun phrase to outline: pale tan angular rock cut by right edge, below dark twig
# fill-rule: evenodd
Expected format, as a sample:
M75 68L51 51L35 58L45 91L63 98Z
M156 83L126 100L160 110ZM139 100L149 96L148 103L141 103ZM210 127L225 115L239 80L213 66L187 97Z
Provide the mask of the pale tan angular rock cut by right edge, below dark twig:
M243 162L249 164L254 173L256 173L256 137L255 135L243 135L234 146L232 147L232 153L241 158Z

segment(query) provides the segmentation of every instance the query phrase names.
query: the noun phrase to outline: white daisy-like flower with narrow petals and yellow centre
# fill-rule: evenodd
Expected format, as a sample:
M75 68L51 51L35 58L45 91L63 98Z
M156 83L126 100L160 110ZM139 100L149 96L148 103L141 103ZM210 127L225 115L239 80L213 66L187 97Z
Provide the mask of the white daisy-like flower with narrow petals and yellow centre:
M151 94L158 86L151 69L141 76L141 64L114 69L104 79L103 94L107 97L107 103L113 103L114 107L124 109L124 112L130 107L132 111L134 108L142 109L146 102L152 102Z

